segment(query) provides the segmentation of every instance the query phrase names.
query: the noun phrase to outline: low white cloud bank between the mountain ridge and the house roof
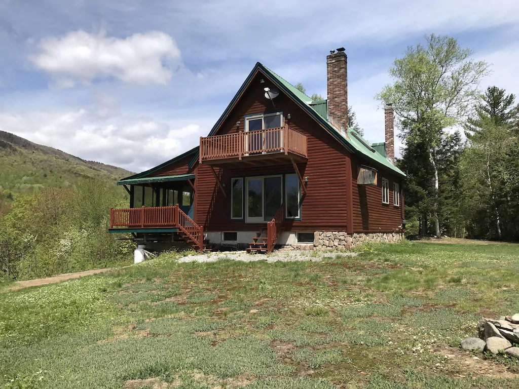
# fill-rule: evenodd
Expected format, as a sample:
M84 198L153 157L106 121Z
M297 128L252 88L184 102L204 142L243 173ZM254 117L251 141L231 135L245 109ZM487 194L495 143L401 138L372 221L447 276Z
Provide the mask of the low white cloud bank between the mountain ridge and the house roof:
M0 130L76 157L140 172L198 144L208 129L147 117L99 118L94 110L0 112Z

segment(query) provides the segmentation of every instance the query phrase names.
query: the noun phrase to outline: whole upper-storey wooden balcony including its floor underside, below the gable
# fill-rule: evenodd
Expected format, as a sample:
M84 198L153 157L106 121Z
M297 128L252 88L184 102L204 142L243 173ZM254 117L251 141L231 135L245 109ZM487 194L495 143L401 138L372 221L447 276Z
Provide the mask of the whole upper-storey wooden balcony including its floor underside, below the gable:
M307 136L288 126L200 137L200 163L278 164L305 162Z

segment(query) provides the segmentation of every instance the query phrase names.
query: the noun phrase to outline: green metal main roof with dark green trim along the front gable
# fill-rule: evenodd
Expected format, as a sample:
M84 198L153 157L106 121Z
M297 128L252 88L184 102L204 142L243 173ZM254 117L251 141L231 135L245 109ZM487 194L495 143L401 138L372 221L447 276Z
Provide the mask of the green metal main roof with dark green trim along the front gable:
M213 136L217 129L220 127L220 124L225 120L230 110L236 103L236 101L241 97L241 94L249 85L249 82L254 77L254 75L260 71L263 73L271 82L273 82L282 92L288 94L303 110L305 110L311 117L313 117L318 123L321 124L337 141L343 144L350 152L355 155L361 156L362 158L368 159L374 164L378 166L382 166L383 168L392 171L393 173L405 177L405 173L402 172L397 166L394 166L391 162L389 162L385 156L379 154L377 151L372 151L370 148L366 147L363 143L368 144L368 142L357 134L353 129L349 128L348 133L346 134L343 131L339 131L327 120L327 113L324 112L323 106L327 102L323 101L312 101L306 94L298 90L294 87L290 82L286 81L284 78L278 76L276 73L272 72L269 68L265 67L260 62L257 62L251 73L247 76L243 84L241 85L238 92L235 94L233 100L229 103L227 108L225 109L220 119L214 124L211 132L208 136ZM323 103L325 102L325 103ZM350 136L351 132L354 132L359 137L362 138L362 141L359 141L356 137ZM189 163L189 167L192 168L196 161L198 160L198 153L191 162Z

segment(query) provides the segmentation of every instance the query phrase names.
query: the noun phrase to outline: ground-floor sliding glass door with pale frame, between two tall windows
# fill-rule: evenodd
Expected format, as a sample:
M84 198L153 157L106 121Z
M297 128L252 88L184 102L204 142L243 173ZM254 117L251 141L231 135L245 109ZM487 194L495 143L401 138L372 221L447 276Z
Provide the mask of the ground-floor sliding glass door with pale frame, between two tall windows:
M247 178L247 223L265 223L276 215L281 206L282 179L274 177Z

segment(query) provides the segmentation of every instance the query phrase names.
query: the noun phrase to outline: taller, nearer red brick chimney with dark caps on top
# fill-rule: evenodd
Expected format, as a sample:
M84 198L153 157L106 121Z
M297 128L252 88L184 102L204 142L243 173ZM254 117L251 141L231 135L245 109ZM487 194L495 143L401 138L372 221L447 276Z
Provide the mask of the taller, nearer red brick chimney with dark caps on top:
M330 51L326 57L328 87L328 120L334 127L348 129L348 68L344 47Z

